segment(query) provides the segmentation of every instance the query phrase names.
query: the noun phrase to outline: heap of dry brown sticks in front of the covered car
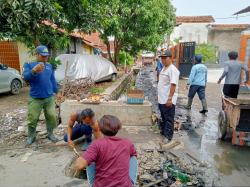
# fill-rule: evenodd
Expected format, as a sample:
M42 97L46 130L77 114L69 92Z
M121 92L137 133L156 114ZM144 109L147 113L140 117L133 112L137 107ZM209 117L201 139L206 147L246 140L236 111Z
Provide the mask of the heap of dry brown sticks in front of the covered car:
M60 83L64 97L81 100L89 96L89 88L94 86L95 82L87 77L66 82L65 85L63 84L63 82Z

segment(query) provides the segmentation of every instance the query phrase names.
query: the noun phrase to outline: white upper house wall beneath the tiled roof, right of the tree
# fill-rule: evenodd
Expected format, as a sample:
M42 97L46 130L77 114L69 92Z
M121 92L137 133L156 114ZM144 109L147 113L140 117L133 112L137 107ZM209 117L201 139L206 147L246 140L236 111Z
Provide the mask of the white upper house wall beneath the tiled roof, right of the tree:
M207 43L208 23L182 23L174 28L170 40L181 42L195 41L197 44Z

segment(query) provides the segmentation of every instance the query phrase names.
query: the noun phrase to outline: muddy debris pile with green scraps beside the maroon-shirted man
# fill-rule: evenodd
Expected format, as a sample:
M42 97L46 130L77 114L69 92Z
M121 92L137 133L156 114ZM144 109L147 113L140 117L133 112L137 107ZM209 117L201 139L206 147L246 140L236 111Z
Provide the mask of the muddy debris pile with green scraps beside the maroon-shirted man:
M139 156L139 186L205 186L190 165L174 159L169 153L157 150L143 151Z

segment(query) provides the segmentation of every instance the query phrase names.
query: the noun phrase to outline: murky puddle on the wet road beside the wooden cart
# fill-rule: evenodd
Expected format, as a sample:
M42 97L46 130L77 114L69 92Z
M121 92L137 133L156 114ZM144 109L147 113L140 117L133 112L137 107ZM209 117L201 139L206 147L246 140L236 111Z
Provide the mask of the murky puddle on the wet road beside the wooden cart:
M217 139L217 110L211 109L207 116L198 115L198 111L188 114L185 110L180 110L179 114L186 117L186 145L191 150L197 150L201 160L214 166L215 172L222 177L250 176L250 147L233 146L230 141L223 142Z

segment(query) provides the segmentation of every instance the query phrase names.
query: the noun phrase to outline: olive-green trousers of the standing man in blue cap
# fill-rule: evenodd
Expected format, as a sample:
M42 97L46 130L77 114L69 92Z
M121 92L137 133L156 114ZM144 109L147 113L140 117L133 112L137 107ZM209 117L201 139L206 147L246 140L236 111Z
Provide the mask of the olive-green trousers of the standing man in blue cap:
M40 114L44 111L47 129L56 127L56 109L54 96L45 99L35 99L29 97L27 125L36 128Z

